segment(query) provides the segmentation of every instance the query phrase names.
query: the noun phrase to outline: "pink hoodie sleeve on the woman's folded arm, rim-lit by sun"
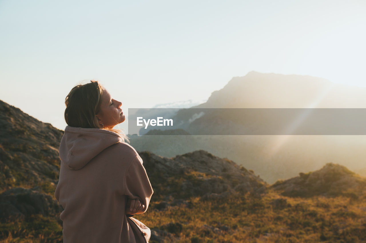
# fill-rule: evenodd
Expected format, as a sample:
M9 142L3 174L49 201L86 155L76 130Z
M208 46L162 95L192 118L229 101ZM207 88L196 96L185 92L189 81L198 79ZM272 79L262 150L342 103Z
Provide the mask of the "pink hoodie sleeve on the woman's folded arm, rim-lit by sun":
M141 157L137 154L126 172L124 194L131 199L139 198L145 205L142 212L145 213L153 194L153 188L142 163Z

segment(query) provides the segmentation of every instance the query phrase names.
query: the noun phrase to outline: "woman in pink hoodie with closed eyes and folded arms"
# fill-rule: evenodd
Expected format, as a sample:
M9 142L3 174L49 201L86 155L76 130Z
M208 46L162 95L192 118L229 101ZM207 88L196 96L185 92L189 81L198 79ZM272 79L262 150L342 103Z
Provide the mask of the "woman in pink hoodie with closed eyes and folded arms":
M148 242L150 229L132 216L146 212L153 189L141 157L113 130L126 120L122 103L90 81L72 88L65 104L55 192L64 243Z

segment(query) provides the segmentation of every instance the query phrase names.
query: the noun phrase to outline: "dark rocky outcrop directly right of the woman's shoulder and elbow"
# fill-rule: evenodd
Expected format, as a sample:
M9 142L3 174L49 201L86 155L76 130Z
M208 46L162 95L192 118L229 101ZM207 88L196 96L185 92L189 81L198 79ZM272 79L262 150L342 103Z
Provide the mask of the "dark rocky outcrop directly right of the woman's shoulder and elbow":
M266 182L253 171L204 150L172 158L146 151L139 154L158 195L164 192L165 196L173 198L202 196L216 199L232 193L260 195L266 191Z

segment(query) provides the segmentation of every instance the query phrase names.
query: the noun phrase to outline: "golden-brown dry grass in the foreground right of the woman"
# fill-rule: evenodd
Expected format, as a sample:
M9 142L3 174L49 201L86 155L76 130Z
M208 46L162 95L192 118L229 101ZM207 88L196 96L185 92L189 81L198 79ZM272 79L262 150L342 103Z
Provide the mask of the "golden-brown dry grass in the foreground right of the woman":
M273 201L286 200L276 209ZM365 199L365 197L363 198ZM192 207L152 207L137 218L150 228L182 225L173 234L179 242L364 242L366 202L347 197L290 198L269 192L219 201L190 198ZM209 226L209 227L207 227ZM216 228L216 229L215 229Z

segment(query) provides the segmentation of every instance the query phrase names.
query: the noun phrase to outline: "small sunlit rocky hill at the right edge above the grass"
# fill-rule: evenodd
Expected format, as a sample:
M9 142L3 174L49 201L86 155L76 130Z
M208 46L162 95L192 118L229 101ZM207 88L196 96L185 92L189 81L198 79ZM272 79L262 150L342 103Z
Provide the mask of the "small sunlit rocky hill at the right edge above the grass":
M320 170L300 173L285 181L277 181L272 188L284 196L351 196L366 192L366 178L348 170L345 166L327 163Z

